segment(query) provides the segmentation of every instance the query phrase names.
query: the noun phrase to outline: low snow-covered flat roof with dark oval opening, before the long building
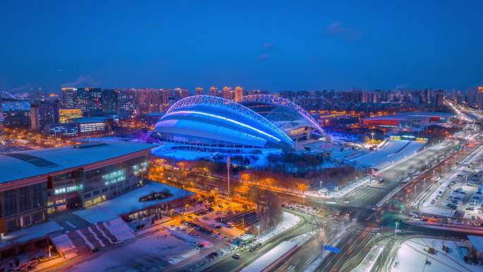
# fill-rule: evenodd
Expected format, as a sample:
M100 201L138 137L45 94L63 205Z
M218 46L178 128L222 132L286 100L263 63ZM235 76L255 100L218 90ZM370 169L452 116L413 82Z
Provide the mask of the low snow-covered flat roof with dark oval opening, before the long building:
M153 192L163 191L164 189L167 189L173 196L167 199L159 199L155 201L139 201L141 196L146 196ZM122 196L118 196L115 199L110 199L108 201L99 203L92 208L75 211L74 213L81 216L81 218L88 220L90 223L98 223L106 220L114 220L118 218L119 215L124 215L133 211L140 211L151 206L167 203L169 201L173 201L174 199L181 199L193 194L193 192L186 191L181 188L171 187L159 182L150 182L141 188L130 191Z

